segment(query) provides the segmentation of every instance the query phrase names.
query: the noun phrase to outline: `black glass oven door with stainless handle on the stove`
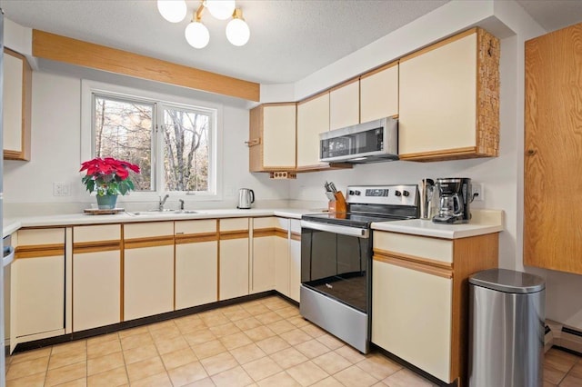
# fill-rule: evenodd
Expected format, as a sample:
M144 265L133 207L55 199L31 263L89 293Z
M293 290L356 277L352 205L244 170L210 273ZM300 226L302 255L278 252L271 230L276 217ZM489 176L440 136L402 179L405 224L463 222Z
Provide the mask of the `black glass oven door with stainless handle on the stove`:
M368 313L370 242L367 228L302 221L301 283Z

